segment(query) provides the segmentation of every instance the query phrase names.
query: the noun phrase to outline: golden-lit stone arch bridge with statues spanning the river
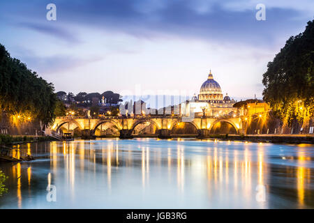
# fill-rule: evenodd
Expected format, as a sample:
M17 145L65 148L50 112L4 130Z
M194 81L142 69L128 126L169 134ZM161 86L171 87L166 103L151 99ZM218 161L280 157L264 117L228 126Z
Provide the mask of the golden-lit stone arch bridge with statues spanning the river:
M120 132L121 139L131 137L134 128L140 123L151 123L155 125L156 132L160 138L171 137L172 128L179 123L190 123L197 130L199 137L207 137L216 123L230 123L237 134L242 133L241 117L197 117L183 116L135 116L135 117L105 117L105 118L80 118L80 117L57 117L52 125L52 130L59 132L61 126L75 124L86 137L94 137L96 129L102 124L109 124Z

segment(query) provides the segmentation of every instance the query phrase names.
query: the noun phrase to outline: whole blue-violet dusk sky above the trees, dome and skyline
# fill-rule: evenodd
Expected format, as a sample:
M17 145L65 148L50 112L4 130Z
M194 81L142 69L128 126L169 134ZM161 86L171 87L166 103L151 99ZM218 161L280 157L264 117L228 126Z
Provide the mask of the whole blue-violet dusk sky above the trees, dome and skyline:
M56 91L199 93L211 69L223 94L262 98L267 63L313 15L313 0L1 0L0 43Z

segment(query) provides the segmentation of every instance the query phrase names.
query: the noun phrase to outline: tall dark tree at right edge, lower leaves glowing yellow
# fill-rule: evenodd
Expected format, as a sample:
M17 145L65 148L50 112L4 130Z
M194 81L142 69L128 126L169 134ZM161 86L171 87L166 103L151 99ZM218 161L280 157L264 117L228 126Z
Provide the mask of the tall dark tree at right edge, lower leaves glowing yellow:
M300 128L314 110L314 20L304 33L287 40L267 65L262 83L264 100L290 127Z

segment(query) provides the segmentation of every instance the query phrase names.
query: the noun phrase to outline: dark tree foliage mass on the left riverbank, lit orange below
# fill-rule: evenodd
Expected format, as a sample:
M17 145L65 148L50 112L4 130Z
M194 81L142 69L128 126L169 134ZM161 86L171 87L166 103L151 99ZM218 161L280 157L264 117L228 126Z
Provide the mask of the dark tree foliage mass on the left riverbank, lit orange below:
M0 45L0 109L10 115L29 114L44 124L54 120L54 86L10 57Z

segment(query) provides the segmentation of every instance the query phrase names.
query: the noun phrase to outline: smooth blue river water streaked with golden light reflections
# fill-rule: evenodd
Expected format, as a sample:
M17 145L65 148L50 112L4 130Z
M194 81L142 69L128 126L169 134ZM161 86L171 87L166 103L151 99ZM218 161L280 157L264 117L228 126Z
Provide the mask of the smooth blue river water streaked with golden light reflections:
M20 150L36 160L0 163L0 208L314 208L313 145L99 139Z

